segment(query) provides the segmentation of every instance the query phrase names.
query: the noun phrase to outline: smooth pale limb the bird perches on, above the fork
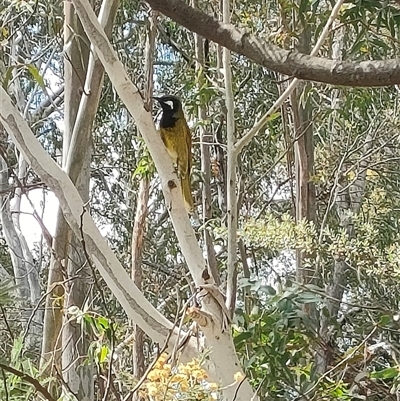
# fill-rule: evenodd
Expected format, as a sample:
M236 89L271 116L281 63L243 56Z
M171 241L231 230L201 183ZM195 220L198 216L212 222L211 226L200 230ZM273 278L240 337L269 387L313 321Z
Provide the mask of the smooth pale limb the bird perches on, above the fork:
M124 66L118 60L104 30L89 7L88 1L74 0L73 3L86 34L95 47L96 53L103 63L115 90L135 119L136 125L151 152L161 178L165 200L182 253L196 285L200 285L202 283L201 275L206 265L185 211L179 180L162 140L156 132L151 113L145 109L138 88L130 81Z

